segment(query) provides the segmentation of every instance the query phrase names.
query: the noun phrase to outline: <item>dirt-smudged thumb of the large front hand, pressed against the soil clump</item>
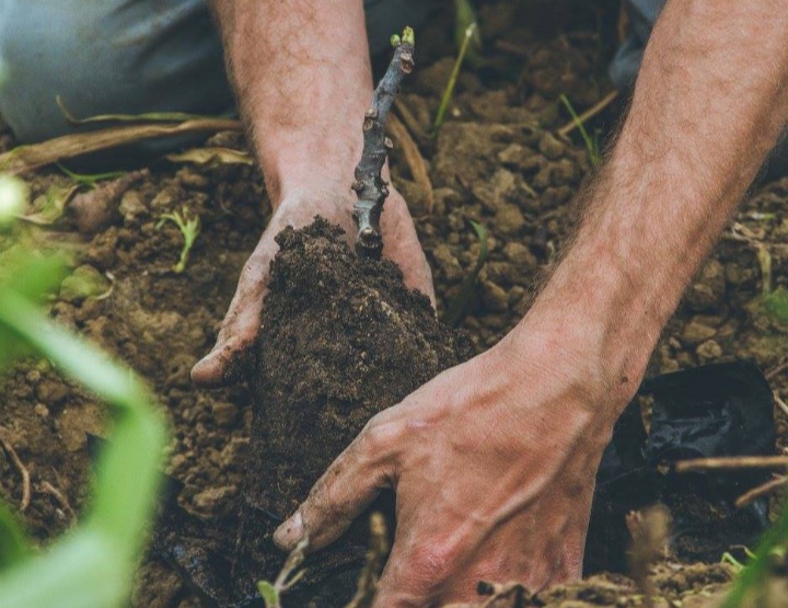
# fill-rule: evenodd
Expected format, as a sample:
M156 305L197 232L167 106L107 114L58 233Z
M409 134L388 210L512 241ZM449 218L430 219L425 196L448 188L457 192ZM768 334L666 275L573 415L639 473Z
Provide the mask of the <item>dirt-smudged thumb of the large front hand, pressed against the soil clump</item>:
M292 549L309 535L310 550L339 538L384 487L393 484L396 438L391 424L374 418L317 480L308 498L274 534Z

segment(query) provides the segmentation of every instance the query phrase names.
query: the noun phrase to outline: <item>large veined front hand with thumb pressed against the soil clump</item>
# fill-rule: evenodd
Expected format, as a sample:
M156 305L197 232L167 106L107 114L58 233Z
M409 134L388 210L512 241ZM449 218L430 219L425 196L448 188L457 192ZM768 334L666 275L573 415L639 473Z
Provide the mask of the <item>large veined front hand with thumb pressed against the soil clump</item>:
M480 580L538 590L579 577L617 411L606 400L628 395L607 390L587 352L557 347L555 334L524 335L372 418L277 530L277 544L291 549L308 534L321 549L391 487L396 535L375 607L470 601Z

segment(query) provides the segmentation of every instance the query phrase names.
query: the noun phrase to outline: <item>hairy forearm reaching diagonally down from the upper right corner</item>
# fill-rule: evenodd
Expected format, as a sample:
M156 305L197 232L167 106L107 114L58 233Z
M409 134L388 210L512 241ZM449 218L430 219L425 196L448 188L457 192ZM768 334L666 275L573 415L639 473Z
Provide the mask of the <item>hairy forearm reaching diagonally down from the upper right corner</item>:
M594 345L611 402L636 389L785 125L787 48L788 18L769 0L672 1L657 23L573 244L522 325L560 323L556 346Z

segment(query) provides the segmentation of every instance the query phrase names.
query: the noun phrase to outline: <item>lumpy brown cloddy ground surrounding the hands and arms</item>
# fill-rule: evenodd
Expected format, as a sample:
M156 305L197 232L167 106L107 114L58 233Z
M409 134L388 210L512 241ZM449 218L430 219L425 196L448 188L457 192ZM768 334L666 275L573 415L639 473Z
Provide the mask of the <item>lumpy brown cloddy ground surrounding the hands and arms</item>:
M568 121L556 103L558 94L566 93L581 111L610 90L604 65L614 44L615 14L595 14L592 4L558 4L568 9L551 12L544 2L511 0L482 8L491 64L461 74L437 140L422 140L418 134L429 131L451 69L454 50L447 15L420 34L421 60L402 95L410 114L403 115L403 122L421 144L428 164L432 208L402 147L393 154L394 183L412 206L432 266L439 312L449 308L478 257L478 239L468 220L489 232L489 259L462 324L478 349L495 344L525 312L535 278L566 238L571 202L591 169L577 134L567 139L555 133ZM591 127L610 126L615 112L614 104ZM219 135L211 144L245 149L233 135ZM0 145L8 149L13 140L5 134ZM71 184L51 169L26 179L38 206L50 188ZM135 180L107 186L99 198L113 209L99 226L78 221L84 215L74 211L76 198L54 225L26 229L36 242L62 245L79 261L76 276L81 279L63 282L51 305L53 317L149 380L173 425L167 472L185 484L181 504L209 517L239 493L251 399L245 387L196 390L188 374L212 345L240 269L266 225L269 207L262 177L244 164L159 160ZM762 369L775 370L775 389L786 388L779 369L788 329L763 306L760 260L763 252L770 259L773 289L786 283L787 204L788 180L754 190L671 320L652 357L651 374L754 357ZM199 215L202 229L186 271L175 274L171 267L181 234L171 223L155 226L162 214L184 206ZM0 240L0 255L9 246L7 239ZM85 433L104 432L103 409L46 362L16 366L1 394L0 433L32 474L33 498L24 519L46 542L67 529L71 509L79 513L85 503ZM786 416L780 411L776 416L784 445ZM0 497L11 504L21 498L18 471L2 450ZM683 606L706 601L729 575L717 565L664 569L658 588L670 600L684 597ZM566 608L636 606L639 597L629 580L616 575L556 590L542 601ZM135 603L186 608L195 599L174 573L152 560L140 570Z

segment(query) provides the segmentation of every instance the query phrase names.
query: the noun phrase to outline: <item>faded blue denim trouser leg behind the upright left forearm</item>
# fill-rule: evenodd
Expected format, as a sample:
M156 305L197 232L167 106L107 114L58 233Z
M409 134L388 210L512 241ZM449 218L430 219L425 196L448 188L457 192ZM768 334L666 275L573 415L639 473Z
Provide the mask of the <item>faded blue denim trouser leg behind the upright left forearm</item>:
M432 5L366 0L372 53ZM0 0L0 114L23 142L71 130L58 94L76 116L234 108L206 0Z

